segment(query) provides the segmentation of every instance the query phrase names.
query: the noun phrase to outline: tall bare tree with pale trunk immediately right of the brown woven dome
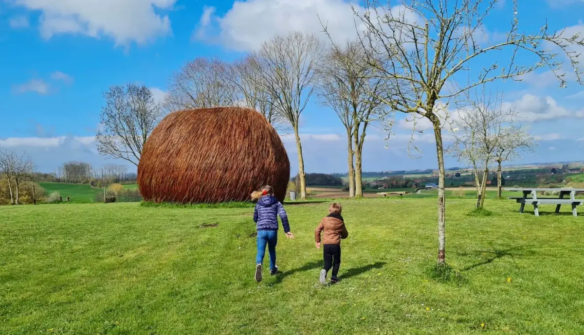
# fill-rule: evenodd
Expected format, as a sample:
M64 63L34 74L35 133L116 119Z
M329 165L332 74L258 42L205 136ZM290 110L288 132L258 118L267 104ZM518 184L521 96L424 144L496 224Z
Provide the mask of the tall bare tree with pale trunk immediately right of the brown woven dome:
M306 198L306 181L298 127L300 115L314 92L315 70L323 52L324 46L314 34L292 32L272 37L253 54L259 84L294 131L301 199Z

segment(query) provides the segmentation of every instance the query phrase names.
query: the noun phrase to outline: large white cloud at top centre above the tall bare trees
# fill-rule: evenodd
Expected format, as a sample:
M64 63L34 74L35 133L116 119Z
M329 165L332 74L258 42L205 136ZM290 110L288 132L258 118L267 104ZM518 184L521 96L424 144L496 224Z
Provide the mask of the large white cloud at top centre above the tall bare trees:
M356 11L364 8L354 4ZM403 12L401 7L393 11ZM255 50L263 41L276 34L286 34L293 30L314 33L326 38L322 32L325 25L334 41L342 43L357 37L355 18L349 2L345 0L247 0L235 1L223 17L213 16L214 8L206 8L199 22L199 29L193 36L198 39L220 41L228 48L239 51ZM406 19L417 16L406 12ZM322 23L321 23L322 22ZM218 36L204 37L207 30L217 25Z

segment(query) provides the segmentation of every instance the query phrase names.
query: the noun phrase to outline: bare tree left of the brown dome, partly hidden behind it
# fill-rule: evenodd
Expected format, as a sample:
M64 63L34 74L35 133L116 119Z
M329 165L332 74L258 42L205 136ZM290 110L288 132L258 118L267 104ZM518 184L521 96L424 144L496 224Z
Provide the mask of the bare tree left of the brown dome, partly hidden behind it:
M96 134L98 151L137 166L148 136L163 117L162 109L146 86L112 86L103 96L106 106L100 114L102 129Z

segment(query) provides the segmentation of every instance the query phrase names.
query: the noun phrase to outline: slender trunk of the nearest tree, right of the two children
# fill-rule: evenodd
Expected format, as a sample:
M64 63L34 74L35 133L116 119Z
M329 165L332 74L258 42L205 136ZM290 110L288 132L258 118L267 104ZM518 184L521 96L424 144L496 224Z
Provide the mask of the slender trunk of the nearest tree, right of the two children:
M438 264L446 263L446 197L444 196L444 149L440 120L434 114L430 119L434 125L436 153L438 156Z

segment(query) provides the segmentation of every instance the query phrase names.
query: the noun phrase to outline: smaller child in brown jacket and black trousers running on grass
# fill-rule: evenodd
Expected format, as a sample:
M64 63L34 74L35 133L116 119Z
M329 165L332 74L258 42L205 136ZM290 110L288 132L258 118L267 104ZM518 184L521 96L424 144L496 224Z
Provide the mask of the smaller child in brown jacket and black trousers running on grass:
M340 266L340 240L349 236L343 217L340 216L343 207L340 204L332 203L329 206L329 215L322 219L317 229L314 230L314 239L317 242L317 249L321 249L321 232L322 244L324 245L325 266L321 270L321 284L326 284L326 273L331 270L331 283L338 281L336 274L339 273Z

